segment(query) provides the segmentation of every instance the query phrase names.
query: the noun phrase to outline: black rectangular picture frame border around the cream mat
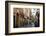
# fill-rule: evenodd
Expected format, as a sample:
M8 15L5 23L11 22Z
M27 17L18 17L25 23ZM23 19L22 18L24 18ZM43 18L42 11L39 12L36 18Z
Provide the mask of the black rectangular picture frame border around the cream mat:
M43 5L43 31L37 32L22 32L22 33L9 33L9 22L8 22L8 3L26 3L26 4L42 4ZM5 1L5 35L16 35L16 34L32 34L32 33L44 33L45 32L45 3L37 3L37 2L22 2L22 1Z

